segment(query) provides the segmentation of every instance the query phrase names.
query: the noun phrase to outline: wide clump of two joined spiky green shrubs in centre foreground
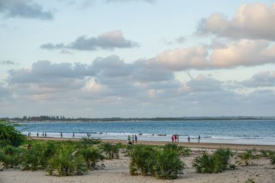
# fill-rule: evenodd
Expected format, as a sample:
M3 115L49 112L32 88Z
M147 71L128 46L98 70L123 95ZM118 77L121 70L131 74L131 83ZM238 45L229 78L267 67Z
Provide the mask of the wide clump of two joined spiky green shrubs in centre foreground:
M159 179L175 179L184 169L177 145L163 148L135 145L129 152L131 175L152 175Z

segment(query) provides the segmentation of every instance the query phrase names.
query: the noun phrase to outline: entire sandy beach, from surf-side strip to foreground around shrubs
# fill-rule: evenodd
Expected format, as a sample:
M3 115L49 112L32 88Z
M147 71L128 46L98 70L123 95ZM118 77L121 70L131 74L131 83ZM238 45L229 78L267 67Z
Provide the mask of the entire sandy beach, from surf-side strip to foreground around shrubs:
M36 139L36 138L35 138ZM79 141L79 139L67 138L39 138L53 141ZM104 143L126 143L126 141L104 140ZM166 142L140 141L138 143L146 145L164 145ZM275 150L275 146L270 145L234 145L234 144L212 144L212 143L179 143L185 147L190 147L192 154L189 157L181 159L186 163L187 168L177 180L157 180L151 176L130 175L129 174L129 157L120 152L119 159L104 160L104 169L88 171L87 175L72 177L50 176L45 171L20 171L8 169L0 172L0 182L245 182L252 178L255 182L275 182L274 165L270 164L267 158L254 160L252 165L236 166L236 170L228 170L223 173L201 174L196 173L192 168L192 160L201 154L201 151L210 153L219 147L229 147L233 152L239 153L245 149L270 149ZM231 159L232 163L236 160L236 155Z

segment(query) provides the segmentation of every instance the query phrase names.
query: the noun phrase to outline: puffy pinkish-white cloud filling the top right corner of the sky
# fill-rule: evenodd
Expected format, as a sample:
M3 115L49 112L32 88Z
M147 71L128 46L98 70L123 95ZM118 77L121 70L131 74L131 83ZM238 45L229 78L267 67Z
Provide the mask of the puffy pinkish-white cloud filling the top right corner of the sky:
M220 13L202 19L197 34L214 34L228 38L275 40L275 4L240 5L232 19Z

